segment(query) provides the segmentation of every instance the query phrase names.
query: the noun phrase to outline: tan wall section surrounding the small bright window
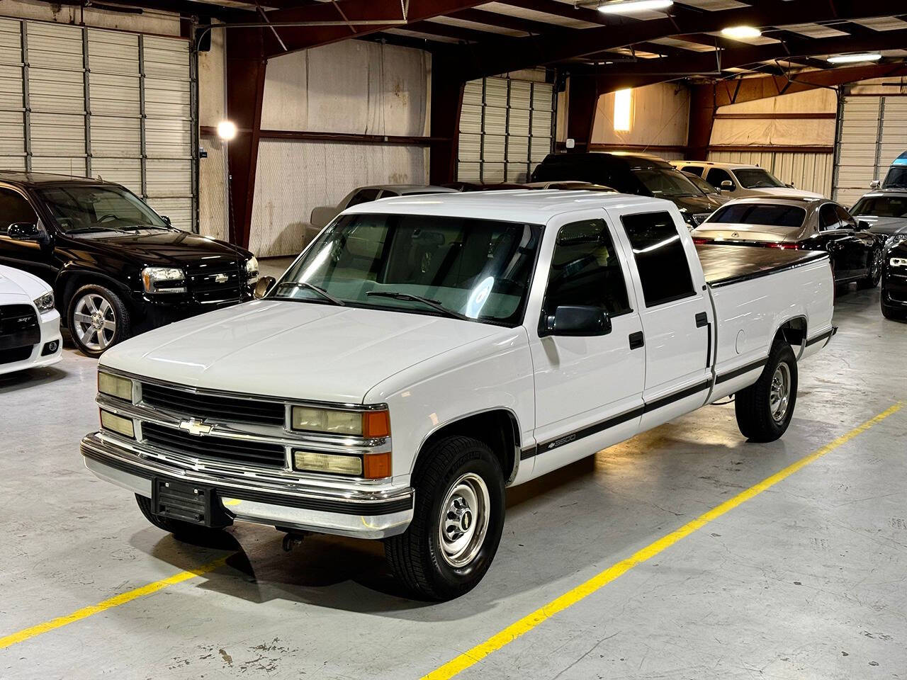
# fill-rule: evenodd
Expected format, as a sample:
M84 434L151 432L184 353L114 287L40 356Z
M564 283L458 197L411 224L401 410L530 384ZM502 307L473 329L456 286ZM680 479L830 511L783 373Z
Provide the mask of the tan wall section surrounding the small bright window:
M630 96L629 131L614 129L615 96L615 92L608 92L599 97L592 144L623 146L634 151L646 149L667 160L683 158L677 147L687 144L688 88L671 83L634 88Z

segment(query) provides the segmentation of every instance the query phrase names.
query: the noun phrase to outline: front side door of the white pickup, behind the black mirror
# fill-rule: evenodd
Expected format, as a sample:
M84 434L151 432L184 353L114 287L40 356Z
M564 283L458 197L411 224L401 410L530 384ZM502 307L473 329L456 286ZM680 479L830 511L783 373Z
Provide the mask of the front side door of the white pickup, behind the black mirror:
M540 337L535 320L527 321L536 393L533 476L629 439L642 413L646 349L614 231L603 210L569 220L554 227L554 243L541 253L542 261L551 253L551 267L537 274L545 280L541 314L598 306L611 328L606 335Z

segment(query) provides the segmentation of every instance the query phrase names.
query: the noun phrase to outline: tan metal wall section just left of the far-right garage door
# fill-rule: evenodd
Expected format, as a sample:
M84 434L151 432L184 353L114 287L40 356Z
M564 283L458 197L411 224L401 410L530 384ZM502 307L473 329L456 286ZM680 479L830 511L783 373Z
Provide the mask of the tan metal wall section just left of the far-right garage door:
M831 196L836 112L837 93L828 88L722 106L708 160L752 163L797 189Z

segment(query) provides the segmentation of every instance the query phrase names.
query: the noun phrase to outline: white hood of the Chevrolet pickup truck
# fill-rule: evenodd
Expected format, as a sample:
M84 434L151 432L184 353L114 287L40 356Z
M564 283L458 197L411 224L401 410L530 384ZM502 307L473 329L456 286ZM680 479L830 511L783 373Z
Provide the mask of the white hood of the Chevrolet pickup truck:
M375 384L512 329L439 316L255 300L138 335L100 364L162 381L287 399L361 403Z

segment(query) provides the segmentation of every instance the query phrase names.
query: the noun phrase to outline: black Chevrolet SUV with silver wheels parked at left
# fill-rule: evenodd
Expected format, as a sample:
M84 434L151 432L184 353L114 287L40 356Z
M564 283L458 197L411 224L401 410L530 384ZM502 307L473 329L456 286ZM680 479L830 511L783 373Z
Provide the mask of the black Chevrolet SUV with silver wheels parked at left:
M0 172L0 264L54 287L73 341L99 356L141 331L252 297L248 250L171 227L129 189Z

